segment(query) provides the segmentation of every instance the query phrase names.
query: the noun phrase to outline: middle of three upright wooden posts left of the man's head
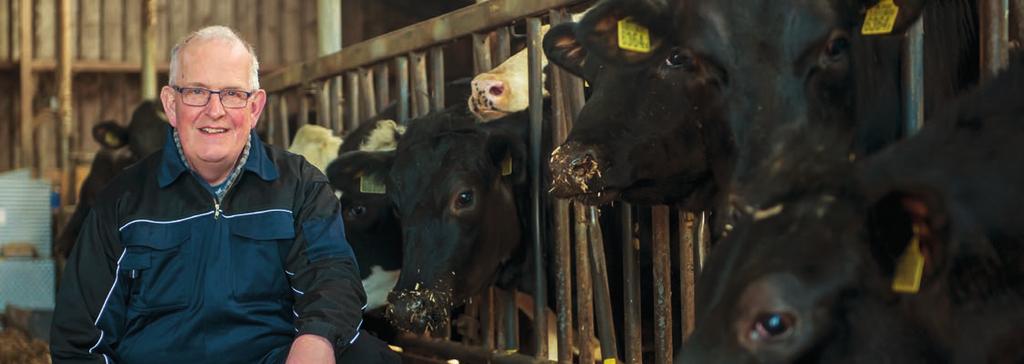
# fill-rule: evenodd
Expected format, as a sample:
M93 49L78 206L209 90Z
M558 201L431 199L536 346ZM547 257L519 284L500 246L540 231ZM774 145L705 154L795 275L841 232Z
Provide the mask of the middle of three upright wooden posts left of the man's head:
M72 130L72 49L71 43L74 35L71 29L72 0L59 0L57 5L57 22L60 30L59 46L57 55L57 123L60 128L60 205L67 205L73 194L71 184L71 130Z

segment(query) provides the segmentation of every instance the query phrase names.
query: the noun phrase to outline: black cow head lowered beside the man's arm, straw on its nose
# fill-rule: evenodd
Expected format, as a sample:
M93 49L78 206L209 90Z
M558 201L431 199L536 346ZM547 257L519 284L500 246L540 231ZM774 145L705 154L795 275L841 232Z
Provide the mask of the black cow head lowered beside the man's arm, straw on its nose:
M441 330L449 310L494 283L520 245L514 189L525 181L526 123L477 125L458 114L411 122L387 184L406 252L388 314L415 332Z

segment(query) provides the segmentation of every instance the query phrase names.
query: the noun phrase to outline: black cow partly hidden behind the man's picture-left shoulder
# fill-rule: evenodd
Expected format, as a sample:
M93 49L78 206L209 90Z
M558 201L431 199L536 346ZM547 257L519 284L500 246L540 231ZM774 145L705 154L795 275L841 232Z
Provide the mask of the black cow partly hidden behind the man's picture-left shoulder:
M144 100L135 107L128 127L115 121L93 126L92 137L99 143L100 149L92 159L89 175L82 183L75 212L54 242L56 256L67 258L71 254L82 223L103 187L135 161L163 148L168 127L159 100Z

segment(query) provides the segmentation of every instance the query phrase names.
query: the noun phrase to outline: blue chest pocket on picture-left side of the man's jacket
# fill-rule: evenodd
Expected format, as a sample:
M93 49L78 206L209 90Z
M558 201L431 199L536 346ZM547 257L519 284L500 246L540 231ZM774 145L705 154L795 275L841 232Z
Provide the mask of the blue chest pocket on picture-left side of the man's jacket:
M118 274L128 282L129 308L153 313L187 307L195 285L182 249L187 240L181 227L139 226L124 232Z

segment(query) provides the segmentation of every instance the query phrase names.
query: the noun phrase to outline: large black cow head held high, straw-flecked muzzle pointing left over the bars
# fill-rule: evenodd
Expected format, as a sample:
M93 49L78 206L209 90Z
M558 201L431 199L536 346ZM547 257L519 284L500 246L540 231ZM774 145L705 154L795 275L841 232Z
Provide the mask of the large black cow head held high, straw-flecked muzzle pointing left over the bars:
M617 46L602 49L631 65L595 54L595 47L607 44L586 37L613 31L614 16L625 11L613 5L598 5L580 24L555 26L544 39L551 62L586 79L591 90L565 143L551 155L552 193L590 204L621 199L703 207L719 177L713 171L730 169L728 130L701 116L701 100L685 93L693 79L668 42L655 41L643 60Z

